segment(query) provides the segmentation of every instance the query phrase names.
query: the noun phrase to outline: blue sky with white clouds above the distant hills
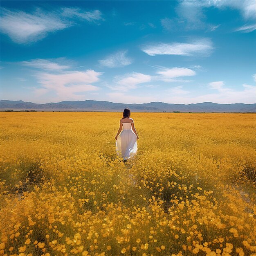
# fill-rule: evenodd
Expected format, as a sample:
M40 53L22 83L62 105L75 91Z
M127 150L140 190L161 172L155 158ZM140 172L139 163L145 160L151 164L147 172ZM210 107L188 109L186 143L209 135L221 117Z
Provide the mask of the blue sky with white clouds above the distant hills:
M255 103L254 0L1 1L0 99Z

